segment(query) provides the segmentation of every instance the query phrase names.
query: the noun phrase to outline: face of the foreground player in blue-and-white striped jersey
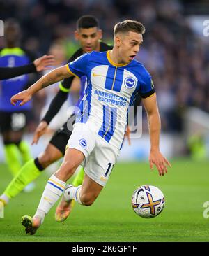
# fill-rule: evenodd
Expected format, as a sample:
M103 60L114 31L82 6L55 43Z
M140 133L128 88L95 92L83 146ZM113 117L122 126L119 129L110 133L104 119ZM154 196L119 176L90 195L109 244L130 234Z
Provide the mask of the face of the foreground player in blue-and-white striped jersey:
M130 31L126 34L122 34L122 36L118 36L116 42L118 45L118 57L121 59L121 62L128 63L131 62L139 52L143 37L142 34Z

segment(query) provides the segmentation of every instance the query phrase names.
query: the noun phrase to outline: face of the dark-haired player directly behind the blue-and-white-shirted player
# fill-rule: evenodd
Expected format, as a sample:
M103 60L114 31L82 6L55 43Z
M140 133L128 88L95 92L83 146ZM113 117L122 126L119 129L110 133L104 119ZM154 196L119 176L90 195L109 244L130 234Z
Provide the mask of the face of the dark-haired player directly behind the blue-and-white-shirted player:
M84 52L100 50L99 40L102 38L102 31L97 27L79 29L75 31L75 38L80 42Z

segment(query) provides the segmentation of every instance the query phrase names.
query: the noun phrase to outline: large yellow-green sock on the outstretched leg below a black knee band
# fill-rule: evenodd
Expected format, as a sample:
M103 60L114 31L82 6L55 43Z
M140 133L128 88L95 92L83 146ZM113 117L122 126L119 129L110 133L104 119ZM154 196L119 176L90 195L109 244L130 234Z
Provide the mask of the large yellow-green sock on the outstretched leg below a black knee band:
M26 185L35 180L40 173L41 171L34 163L34 159L31 159L29 162L26 162L24 166L22 166L15 178L13 178L13 180L6 187L3 194L6 194L9 199L15 197L24 189L24 187L26 187Z

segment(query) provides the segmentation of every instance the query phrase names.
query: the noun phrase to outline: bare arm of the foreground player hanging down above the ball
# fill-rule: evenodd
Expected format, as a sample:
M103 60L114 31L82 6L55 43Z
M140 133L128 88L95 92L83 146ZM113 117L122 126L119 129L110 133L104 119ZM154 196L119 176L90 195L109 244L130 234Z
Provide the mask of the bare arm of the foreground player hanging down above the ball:
M169 161L160 152L160 114L157 107L156 94L142 99L144 108L148 116L148 127L150 133L150 169L153 170L153 164L157 167L159 175L164 176L167 173L167 165L171 167Z

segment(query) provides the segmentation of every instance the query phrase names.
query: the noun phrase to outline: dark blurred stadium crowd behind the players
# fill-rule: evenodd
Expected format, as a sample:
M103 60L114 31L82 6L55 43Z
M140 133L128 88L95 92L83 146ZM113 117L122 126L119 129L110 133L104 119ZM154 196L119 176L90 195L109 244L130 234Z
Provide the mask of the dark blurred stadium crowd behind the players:
M78 48L74 31L81 15L98 17L107 43L112 43L113 24L127 18L139 20L146 33L137 59L153 76L162 131L178 133L187 106L209 112L209 48L189 27L185 13L181 1L8 0L1 1L0 17L15 17L20 22L22 45L37 56L49 52L59 39L66 60ZM37 122L46 94L39 97L35 99Z

